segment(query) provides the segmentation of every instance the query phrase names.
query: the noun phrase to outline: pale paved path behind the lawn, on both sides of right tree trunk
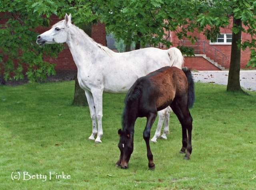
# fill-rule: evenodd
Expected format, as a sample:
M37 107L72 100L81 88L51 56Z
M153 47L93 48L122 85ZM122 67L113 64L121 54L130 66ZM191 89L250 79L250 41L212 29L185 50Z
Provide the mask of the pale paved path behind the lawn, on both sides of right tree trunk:
M193 71L192 74L195 82L228 84L228 71ZM256 70L241 70L240 85L246 90L256 91Z

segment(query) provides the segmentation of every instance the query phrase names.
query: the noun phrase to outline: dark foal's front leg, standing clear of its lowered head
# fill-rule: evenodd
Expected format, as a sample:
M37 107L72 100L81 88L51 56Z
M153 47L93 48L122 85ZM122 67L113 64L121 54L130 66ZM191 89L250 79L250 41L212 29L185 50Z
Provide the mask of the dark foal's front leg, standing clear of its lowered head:
M150 139L150 130L151 130L151 127L154 123L156 119L156 113L150 113L148 116L147 116L147 124L146 124L146 127L143 131L143 138L146 142L146 146L147 146L147 156L148 156L148 167L151 169L151 170L154 170L155 168L155 164L153 163L153 154L151 152L151 149L150 149L150 145L149 145L149 139Z

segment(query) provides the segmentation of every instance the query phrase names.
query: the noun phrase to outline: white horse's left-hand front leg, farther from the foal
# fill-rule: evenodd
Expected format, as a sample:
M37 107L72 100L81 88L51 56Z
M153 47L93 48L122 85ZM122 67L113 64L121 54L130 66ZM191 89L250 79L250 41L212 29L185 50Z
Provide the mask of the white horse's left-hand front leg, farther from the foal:
M96 118L94 100L93 100L92 93L90 91L85 91L85 95L88 101L88 106L89 106L90 115L92 119L92 134L88 138L88 140L95 140L94 137L97 135L98 129L97 129L97 118Z

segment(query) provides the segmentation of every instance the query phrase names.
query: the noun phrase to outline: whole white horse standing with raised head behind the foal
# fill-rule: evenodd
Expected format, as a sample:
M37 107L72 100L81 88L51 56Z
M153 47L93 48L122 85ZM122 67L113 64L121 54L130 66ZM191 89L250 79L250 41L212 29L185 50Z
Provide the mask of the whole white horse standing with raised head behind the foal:
M71 23L71 14L41 35L36 43L67 43L76 67L78 82L85 91L90 115L92 118L92 135L89 139L101 143L102 131L102 93L126 93L134 82L141 76L164 66L182 68L184 57L179 49L172 47L168 50L153 47L115 53L107 47L96 43L82 29ZM158 112L158 133L152 141L160 136L162 123L166 118L163 138L169 133L168 110ZM98 124L98 129L97 129Z

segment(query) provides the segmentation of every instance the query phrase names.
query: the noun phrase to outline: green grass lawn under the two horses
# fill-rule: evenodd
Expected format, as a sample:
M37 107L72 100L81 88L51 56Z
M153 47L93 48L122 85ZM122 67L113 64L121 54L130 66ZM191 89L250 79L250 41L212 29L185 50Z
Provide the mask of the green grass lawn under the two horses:
M136 121L128 169L115 167L125 94L104 94L103 143L95 144L87 140L88 107L71 106L74 81L0 86L1 189L256 189L256 92L195 87L191 160L179 154L181 126L171 114L168 139L150 143L156 165L151 171L142 137L145 118ZM18 172L38 179L12 180ZM70 179L50 180L50 172Z

